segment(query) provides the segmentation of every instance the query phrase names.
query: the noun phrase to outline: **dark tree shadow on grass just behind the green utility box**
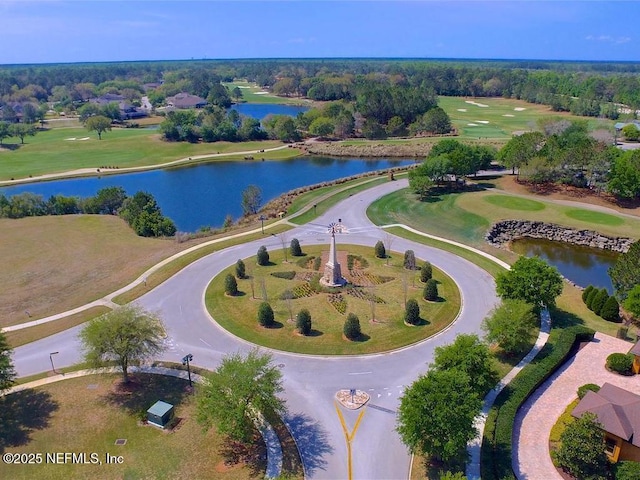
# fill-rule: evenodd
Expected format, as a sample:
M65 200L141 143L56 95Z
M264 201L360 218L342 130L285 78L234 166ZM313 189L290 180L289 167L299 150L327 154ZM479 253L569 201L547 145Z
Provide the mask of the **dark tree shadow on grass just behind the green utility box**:
M158 400L180 405L188 395L188 384L187 380L167 375L135 373L129 375L129 383L123 384L118 381L101 399L146 419L147 410Z

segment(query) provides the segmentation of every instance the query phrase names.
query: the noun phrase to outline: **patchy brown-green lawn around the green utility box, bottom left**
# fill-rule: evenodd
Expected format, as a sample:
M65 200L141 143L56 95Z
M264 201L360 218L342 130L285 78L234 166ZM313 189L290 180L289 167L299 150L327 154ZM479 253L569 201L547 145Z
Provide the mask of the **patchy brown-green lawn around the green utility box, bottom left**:
M263 462L224 464L224 439L203 433L195 421L188 382L161 375L135 375L133 388L120 388L120 375L91 375L25 390L6 398L0 447L10 453L96 453L102 464L34 465L0 463L0 478L38 479L229 479L262 478ZM171 432L142 425L141 412L157 400L175 405ZM126 439L125 445L115 445ZM122 464L106 464L106 454Z

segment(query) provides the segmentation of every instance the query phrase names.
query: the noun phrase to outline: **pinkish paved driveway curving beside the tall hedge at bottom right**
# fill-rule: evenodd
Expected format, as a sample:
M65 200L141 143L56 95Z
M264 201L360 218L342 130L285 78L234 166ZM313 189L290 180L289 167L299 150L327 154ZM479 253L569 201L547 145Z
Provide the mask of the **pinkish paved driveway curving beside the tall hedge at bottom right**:
M551 462L549 434L567 406L585 383L602 385L609 382L640 395L638 377L626 377L605 369L611 353L627 353L632 344L596 333L587 344L569 359L520 407L513 430L513 470L522 480L562 480Z

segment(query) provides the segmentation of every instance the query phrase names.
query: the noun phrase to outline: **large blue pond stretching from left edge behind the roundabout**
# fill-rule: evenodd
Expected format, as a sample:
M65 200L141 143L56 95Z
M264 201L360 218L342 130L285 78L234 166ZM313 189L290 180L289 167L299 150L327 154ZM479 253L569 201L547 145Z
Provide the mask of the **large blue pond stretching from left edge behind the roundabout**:
M263 204L305 185L313 185L360 173L411 165L413 159L354 159L297 157L279 161L212 162L166 170L56 180L0 188L6 196L33 192L89 197L105 187L121 186L128 195L139 190L151 193L162 212L178 230L221 226L227 215L242 215L242 191L251 184L262 190Z

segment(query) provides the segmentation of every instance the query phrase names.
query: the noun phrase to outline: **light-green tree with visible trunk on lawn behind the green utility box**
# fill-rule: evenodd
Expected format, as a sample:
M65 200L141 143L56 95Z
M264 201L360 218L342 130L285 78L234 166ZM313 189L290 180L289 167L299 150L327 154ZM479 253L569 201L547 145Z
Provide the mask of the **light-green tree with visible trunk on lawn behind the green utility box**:
M80 332L84 358L94 367L115 362L122 380L129 381L129 367L165 350L162 320L133 304L118 307L91 320Z

